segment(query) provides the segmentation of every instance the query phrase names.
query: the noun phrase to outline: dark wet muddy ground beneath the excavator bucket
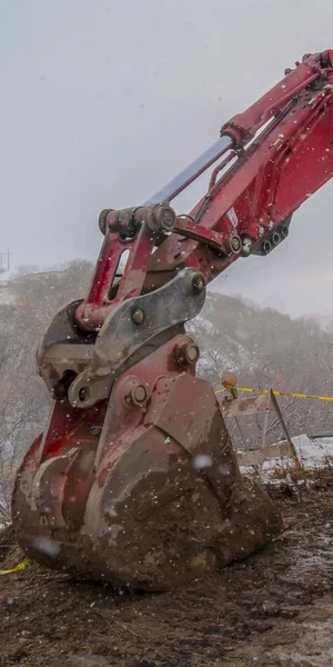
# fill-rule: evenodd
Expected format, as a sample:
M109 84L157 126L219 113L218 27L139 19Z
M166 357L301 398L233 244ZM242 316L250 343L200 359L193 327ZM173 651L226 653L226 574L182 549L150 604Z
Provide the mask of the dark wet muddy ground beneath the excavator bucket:
M0 667L333 666L333 474L272 494L295 520L282 537L170 594L1 576Z

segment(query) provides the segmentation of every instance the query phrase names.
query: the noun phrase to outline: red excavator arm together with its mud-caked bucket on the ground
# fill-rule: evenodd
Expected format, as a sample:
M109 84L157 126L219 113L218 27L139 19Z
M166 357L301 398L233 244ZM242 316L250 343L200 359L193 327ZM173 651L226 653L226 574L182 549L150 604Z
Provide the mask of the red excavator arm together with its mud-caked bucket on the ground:
M213 167L189 215L172 200ZM284 529L242 476L185 323L234 261L268 256L333 175L333 50L306 54L143 205L105 209L85 299L37 350L48 424L12 494L17 539L47 568L168 590L240 560Z

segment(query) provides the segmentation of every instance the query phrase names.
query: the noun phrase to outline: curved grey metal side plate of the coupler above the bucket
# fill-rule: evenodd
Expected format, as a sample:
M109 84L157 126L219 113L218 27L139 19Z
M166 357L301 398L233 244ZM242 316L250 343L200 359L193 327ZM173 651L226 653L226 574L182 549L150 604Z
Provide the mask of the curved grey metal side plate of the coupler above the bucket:
M192 319L204 299L203 277L195 269L184 269L164 287L123 301L101 328L91 364L72 381L71 405L85 408L107 398L124 361L165 329Z

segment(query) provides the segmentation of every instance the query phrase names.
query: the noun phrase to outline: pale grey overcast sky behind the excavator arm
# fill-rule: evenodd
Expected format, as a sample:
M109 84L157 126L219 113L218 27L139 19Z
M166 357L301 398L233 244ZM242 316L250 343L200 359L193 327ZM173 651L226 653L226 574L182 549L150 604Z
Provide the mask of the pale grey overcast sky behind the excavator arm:
M0 250L95 259L101 209L147 200L332 26L327 0L0 0ZM333 315L332 221L331 182L214 288Z

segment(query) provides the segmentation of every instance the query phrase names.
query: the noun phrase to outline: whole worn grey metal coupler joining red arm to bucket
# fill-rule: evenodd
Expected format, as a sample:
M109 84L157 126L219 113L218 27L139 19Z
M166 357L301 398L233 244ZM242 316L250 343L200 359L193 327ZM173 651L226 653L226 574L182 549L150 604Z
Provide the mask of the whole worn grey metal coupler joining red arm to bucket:
M108 398L115 371L119 375L134 352L192 319L204 299L201 273L184 269L164 287L119 303L98 335L79 330L73 319L77 303L72 303L56 316L39 347L39 372L48 389L58 394L67 377L73 376L68 382L69 400L73 407L88 408Z

